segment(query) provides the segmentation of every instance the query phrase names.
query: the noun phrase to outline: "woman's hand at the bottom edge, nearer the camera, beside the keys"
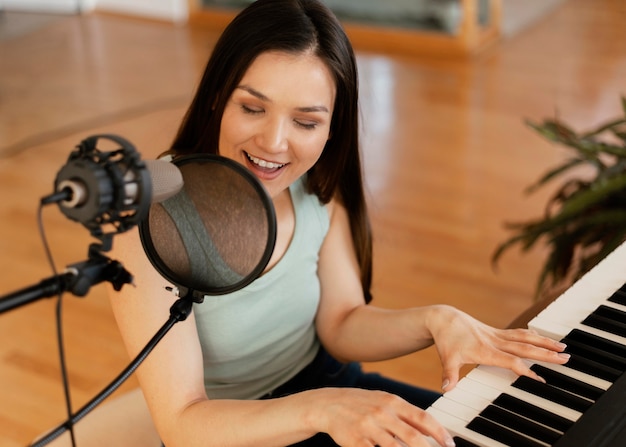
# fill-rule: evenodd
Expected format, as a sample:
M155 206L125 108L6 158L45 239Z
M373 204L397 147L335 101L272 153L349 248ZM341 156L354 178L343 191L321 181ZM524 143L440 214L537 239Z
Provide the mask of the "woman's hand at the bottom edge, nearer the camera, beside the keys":
M453 447L450 433L421 408L384 391L324 388L312 391L316 412L311 421L343 447L428 447L431 436L442 447ZM319 413L318 413L319 412Z

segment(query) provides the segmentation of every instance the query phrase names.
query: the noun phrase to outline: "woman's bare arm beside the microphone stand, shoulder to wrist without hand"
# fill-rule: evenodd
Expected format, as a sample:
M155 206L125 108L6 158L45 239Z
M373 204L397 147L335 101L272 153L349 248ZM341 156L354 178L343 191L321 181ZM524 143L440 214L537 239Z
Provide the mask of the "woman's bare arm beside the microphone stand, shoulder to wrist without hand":
M135 356L169 317L176 300L149 264L137 233L118 239L119 259L136 287L111 294L127 350ZM209 400L193 313L179 322L138 368L137 376L160 436L168 447L286 445L312 436L297 402ZM295 401L295 399L292 399ZM245 422L244 422L245 421ZM245 425L245 430L242 426Z

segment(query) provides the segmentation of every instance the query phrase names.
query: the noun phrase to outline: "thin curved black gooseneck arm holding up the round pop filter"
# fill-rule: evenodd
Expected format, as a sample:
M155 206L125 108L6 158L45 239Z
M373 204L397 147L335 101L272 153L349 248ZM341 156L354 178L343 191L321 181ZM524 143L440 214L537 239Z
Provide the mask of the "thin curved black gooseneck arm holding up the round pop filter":
M133 359L133 361L124 369L107 387L105 387L98 395L92 400L87 402L80 410L74 413L67 421L58 425L55 429L49 431L46 435L41 437L38 441L31 444L30 447L42 447L52 442L65 431L69 430L74 424L84 418L91 410L98 406L104 399L109 397L120 385L128 379L132 373L139 367L139 365L145 360L145 358L152 352L157 343L169 332L174 324L179 321L184 321L191 313L191 308L195 302L193 292L188 291L185 296L179 298L170 308L170 317L165 324L157 331L157 333L146 344L145 348Z

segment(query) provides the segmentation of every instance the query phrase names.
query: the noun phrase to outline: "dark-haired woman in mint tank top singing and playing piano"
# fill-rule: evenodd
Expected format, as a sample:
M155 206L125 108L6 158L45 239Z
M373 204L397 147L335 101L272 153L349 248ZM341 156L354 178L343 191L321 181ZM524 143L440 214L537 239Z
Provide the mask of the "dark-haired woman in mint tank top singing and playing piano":
M427 446L426 436L452 446L423 411L438 393L364 374L354 362L435 343L448 390L463 364L495 364L541 380L522 357L567 361L562 344L488 327L449 306L366 304L372 245L356 64L340 24L319 1L259 0L234 19L172 152L213 152L249 168L273 200L278 234L259 279L196 306L138 369L167 447ZM135 356L175 297L136 234L116 247L137 287L111 302Z

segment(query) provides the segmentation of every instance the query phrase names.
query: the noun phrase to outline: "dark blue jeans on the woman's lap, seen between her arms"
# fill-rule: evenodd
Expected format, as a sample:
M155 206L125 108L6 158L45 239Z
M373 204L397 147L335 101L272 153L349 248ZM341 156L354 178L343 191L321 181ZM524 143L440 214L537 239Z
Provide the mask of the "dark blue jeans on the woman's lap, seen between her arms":
M366 373L358 363L340 363L321 348L306 368L263 399L324 387L387 391L420 408L428 408L441 396L437 392L398 382L377 373ZM338 445L327 434L319 433L306 441L293 444L292 447L338 447Z

